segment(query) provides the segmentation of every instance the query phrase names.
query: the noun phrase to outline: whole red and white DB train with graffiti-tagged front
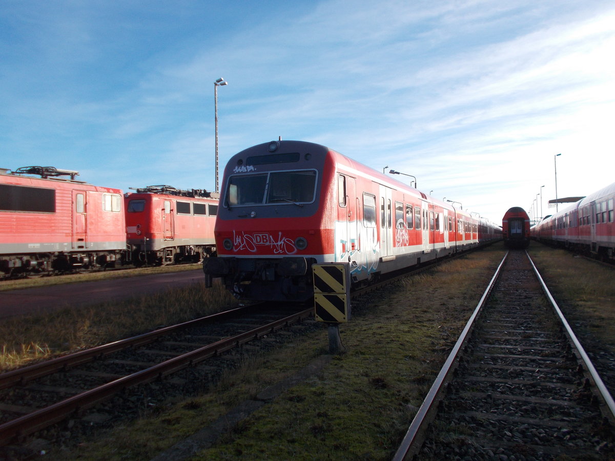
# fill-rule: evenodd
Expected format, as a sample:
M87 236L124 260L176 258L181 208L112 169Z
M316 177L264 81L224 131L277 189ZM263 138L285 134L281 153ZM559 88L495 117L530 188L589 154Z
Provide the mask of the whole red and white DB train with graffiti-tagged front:
M226 165L218 258L204 259L203 270L240 299L307 301L312 264L347 262L357 285L500 232L325 146L272 141Z

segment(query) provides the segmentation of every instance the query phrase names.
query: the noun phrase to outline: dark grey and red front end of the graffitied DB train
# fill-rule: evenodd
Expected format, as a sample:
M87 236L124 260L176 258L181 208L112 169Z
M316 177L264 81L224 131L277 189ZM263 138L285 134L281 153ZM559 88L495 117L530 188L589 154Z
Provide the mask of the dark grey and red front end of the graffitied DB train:
M311 266L333 253L333 226L323 219L327 154L318 144L272 141L229 160L215 226L218 258L203 262L208 285L221 278L244 300L311 299Z

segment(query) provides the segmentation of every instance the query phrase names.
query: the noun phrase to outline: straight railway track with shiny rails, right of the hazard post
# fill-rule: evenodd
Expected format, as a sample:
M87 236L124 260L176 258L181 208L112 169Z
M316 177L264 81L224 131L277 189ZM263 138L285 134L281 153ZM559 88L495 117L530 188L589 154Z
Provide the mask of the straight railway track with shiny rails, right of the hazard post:
M613 459L614 412L529 256L514 251L394 459Z

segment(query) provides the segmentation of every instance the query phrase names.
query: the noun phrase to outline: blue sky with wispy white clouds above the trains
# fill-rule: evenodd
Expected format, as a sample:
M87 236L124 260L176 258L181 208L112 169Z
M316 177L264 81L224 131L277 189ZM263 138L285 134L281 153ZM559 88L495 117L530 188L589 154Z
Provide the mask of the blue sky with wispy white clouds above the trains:
M555 154L558 197L615 180L614 57L610 0L2 0L0 167L213 190L224 77L220 171L282 136L547 215Z

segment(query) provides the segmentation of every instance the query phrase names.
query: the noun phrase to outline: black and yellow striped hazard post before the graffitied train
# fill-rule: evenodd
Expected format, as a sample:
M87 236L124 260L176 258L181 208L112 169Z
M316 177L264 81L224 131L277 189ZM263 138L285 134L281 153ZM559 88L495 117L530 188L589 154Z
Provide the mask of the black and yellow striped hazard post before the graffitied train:
M329 326L329 352L341 350L339 323L350 320L350 265L314 264L314 315Z

